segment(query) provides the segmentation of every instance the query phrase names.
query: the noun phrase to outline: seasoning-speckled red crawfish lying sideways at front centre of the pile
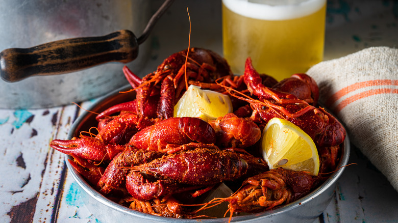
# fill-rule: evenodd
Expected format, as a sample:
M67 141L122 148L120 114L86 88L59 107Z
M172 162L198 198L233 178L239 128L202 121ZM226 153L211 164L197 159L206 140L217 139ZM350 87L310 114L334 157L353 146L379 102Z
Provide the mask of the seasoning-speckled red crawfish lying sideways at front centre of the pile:
M129 193L138 200L166 196L177 184L208 186L268 170L264 160L234 151L196 148L133 166L126 177ZM141 173L154 176L150 181Z

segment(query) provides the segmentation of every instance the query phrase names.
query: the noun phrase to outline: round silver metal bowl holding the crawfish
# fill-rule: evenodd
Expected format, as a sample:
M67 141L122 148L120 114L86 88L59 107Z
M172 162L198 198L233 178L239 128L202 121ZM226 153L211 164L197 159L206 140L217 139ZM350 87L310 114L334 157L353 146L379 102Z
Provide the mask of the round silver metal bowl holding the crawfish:
M135 98L135 93L119 93L131 89L126 86L117 91L108 94L103 99L98 100L89 110L101 112L117 103L130 101ZM73 123L68 138L78 136L82 130L87 130L89 127L95 125L95 115L87 111L82 114L76 122ZM340 163L337 166L337 171L333 173L328 180L321 184L314 191L300 200L284 205L282 207L264 211L257 214L248 214L233 217L231 222L313 222L322 212L325 211L330 201L332 200L336 182L344 171L344 165L347 164L350 154L350 141L346 136L343 150L341 153ZM65 155L65 160L71 159L71 156ZM89 211L102 223L107 222L228 222L229 218L213 218L213 219L178 219L159 217L155 215L141 213L139 211L131 210L123 207L115 202L110 201L102 194L94 190L83 177L72 168L69 162L66 162L69 172L80 186L82 200Z

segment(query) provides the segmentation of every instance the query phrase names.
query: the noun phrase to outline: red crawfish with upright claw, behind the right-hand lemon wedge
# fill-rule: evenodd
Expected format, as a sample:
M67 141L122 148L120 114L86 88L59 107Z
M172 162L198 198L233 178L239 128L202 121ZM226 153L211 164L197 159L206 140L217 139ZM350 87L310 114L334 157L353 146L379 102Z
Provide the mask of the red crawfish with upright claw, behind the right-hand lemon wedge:
M258 100L245 100L265 123L274 117L286 119L299 126L320 147L335 146L344 141L345 129L336 118L324 108L309 105L293 94L265 87L250 58L245 64L244 82L247 89L258 97Z

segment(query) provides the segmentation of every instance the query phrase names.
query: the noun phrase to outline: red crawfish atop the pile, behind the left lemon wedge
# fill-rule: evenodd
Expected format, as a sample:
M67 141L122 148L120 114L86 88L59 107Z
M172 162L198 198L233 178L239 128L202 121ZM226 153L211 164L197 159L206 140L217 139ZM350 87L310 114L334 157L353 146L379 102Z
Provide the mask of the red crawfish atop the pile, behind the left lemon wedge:
M136 76L132 72L129 75ZM232 75L227 61L211 50L192 47L173 53L135 88L138 112L147 116L146 104L150 103L151 96L159 94L157 117L171 118L173 107L190 80L211 83L227 75Z

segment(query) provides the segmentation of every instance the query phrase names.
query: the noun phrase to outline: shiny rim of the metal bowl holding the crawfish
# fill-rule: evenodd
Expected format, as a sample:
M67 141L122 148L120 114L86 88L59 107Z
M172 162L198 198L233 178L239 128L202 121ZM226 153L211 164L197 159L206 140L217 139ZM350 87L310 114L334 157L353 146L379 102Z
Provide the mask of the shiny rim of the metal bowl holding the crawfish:
M105 99L112 98L118 94L119 92L127 91L131 89L130 86L124 86L122 88L119 88L118 90L111 92L104 96L102 99L99 99L96 103L94 103L88 110L95 110L95 107L98 107L103 103ZM78 128L81 127L81 124L83 121L87 119L87 116L92 115L92 113L89 113L88 111L84 111L82 115L78 117L78 119L72 124L71 129L69 130L68 133L68 138L72 138L73 136L76 135L76 131ZM313 198L317 197L319 194L327 190L331 185L333 185L338 178L341 176L343 173L345 166L349 160L349 154L350 154L350 140L348 135L346 135L345 140L344 140L344 146L343 146L343 153L341 154L341 160L339 162L339 165L336 168L336 172L333 173L324 183L322 183L318 188L313 190L311 193L307 194L307 196L294 201L292 203L289 203L287 205L281 206L276 209L272 209L269 211L264 211L261 213L256 213L256 214L248 214L248 215L242 215L242 216L235 216L232 218L233 221L244 221L244 220L251 220L251 219L261 219L261 218L268 218L274 215L279 215L286 213L292 209L295 209L299 206L302 206L308 202L310 202ZM96 201L99 203L108 206L111 209L114 209L116 211L123 212L127 215L131 215L132 217L137 217L137 218L142 218L145 220L151 220L151 221L157 221L157 222L225 222L226 219L228 220L228 217L226 218L211 218L211 219L204 219L204 218L198 218L198 219L179 219L179 218L169 218L169 217L160 217L160 216L155 216L151 214L145 214L139 211L134 211L132 209L129 209L127 207L124 207L122 205L119 205L106 197L104 197L101 193L97 192L95 189L93 189L87 182L86 180L76 171L74 168L70 165L70 163L67 161L68 159L72 158L69 155L65 155L65 162L67 165L67 168L69 169L72 177L74 180L79 184L79 186L92 198L94 198Z

